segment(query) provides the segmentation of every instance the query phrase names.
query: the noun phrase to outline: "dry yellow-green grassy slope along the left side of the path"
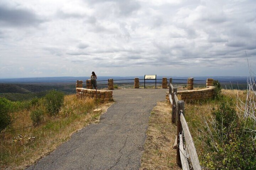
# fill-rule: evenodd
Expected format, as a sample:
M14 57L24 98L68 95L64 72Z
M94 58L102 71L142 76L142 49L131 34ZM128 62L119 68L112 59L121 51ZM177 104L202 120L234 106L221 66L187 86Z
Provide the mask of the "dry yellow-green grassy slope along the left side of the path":
M102 113L111 104L101 105ZM94 109L92 99L79 100L75 95L67 95L59 117L53 119L45 115L46 122L40 125L31 126L31 110L14 113L12 127L5 131L31 127L0 135L0 169L24 169L49 154L67 141L74 132L90 123L97 123L100 115L94 115Z

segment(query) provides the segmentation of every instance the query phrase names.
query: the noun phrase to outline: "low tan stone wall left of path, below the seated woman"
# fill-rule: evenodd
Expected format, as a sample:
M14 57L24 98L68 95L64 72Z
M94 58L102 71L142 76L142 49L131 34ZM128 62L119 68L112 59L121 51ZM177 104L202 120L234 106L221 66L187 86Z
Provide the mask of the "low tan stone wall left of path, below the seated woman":
M113 91L112 90L96 90L93 89L88 89L88 88L76 88L76 97L80 99L85 99L85 98L93 98L97 99L101 102L109 102L113 101Z

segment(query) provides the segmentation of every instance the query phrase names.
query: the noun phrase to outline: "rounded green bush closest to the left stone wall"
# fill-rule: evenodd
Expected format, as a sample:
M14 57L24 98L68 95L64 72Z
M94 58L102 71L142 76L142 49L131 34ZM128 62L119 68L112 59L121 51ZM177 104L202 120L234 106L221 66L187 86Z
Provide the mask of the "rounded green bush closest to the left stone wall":
M46 111L50 116L59 113L60 108L64 103L64 93L56 90L51 90L45 96Z

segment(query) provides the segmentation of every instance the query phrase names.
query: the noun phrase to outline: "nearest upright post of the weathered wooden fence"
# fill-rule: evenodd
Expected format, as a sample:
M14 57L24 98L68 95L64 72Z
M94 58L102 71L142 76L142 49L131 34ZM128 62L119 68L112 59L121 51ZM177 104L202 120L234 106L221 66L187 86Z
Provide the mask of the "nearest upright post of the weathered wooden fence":
M181 125L181 117L180 117L180 112L184 113L184 107L185 107L185 102L183 100L179 100L178 101L178 106L177 106L177 110L178 110L178 122L177 122L177 157L176 157L176 163L181 167L181 156L180 156L180 138L179 138L179 134L181 134L182 132L182 125Z

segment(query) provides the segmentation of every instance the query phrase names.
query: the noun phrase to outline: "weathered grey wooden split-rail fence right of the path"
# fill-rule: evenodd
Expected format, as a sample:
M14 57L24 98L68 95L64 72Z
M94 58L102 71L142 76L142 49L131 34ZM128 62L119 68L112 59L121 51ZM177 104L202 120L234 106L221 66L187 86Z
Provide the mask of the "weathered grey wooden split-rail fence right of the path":
M185 112L185 102L183 100L178 100L177 88L174 88L172 83L172 78L170 78L169 83L169 99L172 105L172 123L177 121L177 136L175 139L175 144L177 149L176 163L182 167L184 170L189 170L189 159L191 166L194 170L202 169L197 156L197 151L194 146L192 136L190 134L189 128L187 126L186 119L184 117ZM185 140L184 140L185 139ZM177 143L176 143L177 142ZM184 149L184 144L187 145L187 151Z

